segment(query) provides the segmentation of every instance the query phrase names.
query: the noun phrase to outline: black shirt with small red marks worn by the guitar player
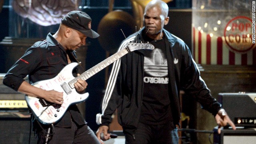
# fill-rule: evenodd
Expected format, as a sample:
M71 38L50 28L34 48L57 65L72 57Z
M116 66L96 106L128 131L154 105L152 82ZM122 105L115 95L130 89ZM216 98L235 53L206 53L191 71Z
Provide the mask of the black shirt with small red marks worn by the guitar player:
M18 91L18 88L28 75L29 83L54 78L67 64L67 52L49 33L46 40L36 42L26 50L25 54L10 68L3 83ZM70 60L75 62L73 51L68 52ZM76 70L74 70L76 73ZM70 127L71 119L79 124L86 124L76 105L71 105L63 118L55 126Z

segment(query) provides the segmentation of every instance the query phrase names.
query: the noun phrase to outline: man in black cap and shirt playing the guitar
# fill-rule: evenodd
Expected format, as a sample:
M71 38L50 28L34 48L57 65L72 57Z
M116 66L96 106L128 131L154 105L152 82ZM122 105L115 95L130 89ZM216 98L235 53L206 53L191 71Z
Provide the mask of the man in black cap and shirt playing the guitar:
M3 83L10 88L36 96L56 104L62 104L63 92L42 90L31 84L54 78L71 62L77 62L75 50L86 44L86 38L97 38L91 30L92 19L81 11L72 11L61 19L56 33L50 32L45 40L36 42L10 68ZM78 75L78 68L74 76ZM24 80L28 75L29 83ZM87 82L78 79L74 84L78 93L84 93ZM78 107L71 105L62 119L54 124L44 125L33 120L33 130L38 134L38 144L99 144L94 132L87 126Z

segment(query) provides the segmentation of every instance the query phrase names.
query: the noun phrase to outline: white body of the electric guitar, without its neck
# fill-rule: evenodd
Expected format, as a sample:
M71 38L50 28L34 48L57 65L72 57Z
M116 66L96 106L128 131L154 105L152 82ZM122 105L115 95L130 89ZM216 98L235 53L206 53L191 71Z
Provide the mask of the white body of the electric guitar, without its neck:
M28 107L32 113L42 124L53 124L60 120L67 111L68 107L72 104L84 102L89 94L79 94L75 88L70 88L68 82L74 79L72 70L77 66L76 62L65 66L60 73L52 79L42 80L32 84L37 88L44 90L56 90L63 92L63 103L60 104L44 104L42 99L34 96L25 96ZM66 85L66 86L65 86ZM68 87L68 88L67 88ZM68 89L68 90L66 90Z

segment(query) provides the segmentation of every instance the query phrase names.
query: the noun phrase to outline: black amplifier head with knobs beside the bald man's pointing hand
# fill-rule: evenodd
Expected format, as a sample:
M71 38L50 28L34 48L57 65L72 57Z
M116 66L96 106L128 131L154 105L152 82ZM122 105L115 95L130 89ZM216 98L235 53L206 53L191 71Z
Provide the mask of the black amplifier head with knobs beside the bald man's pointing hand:
M236 126L256 127L256 93L219 93L218 101Z

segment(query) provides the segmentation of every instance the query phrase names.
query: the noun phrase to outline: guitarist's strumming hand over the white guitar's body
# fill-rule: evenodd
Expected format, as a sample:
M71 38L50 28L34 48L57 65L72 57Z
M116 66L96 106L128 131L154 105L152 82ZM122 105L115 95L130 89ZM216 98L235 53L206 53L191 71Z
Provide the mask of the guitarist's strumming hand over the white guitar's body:
M58 92L56 90L45 90L44 92L44 100L48 102L53 102L56 104L63 103L63 92Z

